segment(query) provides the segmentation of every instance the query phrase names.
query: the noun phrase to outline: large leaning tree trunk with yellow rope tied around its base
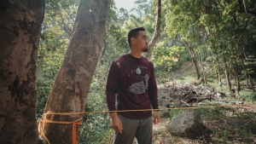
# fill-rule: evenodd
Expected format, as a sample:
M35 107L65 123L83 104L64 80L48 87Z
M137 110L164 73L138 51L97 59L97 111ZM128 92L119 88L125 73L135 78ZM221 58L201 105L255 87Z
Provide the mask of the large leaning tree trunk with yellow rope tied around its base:
M83 112L90 82L102 50L110 0L81 0L61 69L49 94L44 112ZM52 121L73 122L77 115L49 115ZM41 123L41 125L44 123ZM77 125L79 127L79 125ZM42 129L41 129L42 130ZM44 134L51 144L66 144L72 139L73 124L46 123ZM76 130L76 134L79 129ZM78 137L75 138L77 141Z

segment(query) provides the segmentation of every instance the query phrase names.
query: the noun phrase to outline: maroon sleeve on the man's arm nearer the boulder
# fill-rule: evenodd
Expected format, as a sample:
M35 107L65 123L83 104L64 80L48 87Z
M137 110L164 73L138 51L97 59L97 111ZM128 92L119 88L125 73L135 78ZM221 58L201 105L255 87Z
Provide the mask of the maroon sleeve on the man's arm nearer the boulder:
M157 84L154 76L154 66L152 62L150 62L150 64L152 75L148 80L148 96L151 101L153 109L159 109L157 97Z

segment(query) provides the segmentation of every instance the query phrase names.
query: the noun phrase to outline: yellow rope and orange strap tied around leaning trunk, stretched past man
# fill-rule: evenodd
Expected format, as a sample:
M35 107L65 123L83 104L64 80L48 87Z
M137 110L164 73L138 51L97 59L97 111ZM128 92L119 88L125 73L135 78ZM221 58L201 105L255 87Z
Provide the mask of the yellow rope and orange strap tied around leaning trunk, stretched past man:
M246 106L246 107L256 107L256 105L253 104L240 104L240 105L232 105L232 106ZM206 106L206 107L177 107L177 108L160 108L160 109L154 109L154 110L158 110L158 111L166 111L166 110L172 110L172 109L199 109L199 108L210 108L210 107L230 107L230 106ZM49 124L73 124L73 128L72 128L72 143L73 144L77 144L77 130L76 130L76 126L77 124L82 124L82 119L83 118L79 118L73 122L67 122L67 121L52 121L47 119L47 115L78 115L78 114L83 114L83 113L105 113L105 112L138 112L138 111L153 111L153 109L137 109L137 110L122 110L122 111L87 111L87 112L46 112L43 114L43 118L40 120L38 127L39 127L39 131L40 131L40 135L42 135L45 139L45 141L48 142L48 144L50 144L49 139L46 137L46 135L44 135L44 127L46 123ZM43 123L42 127L41 127L41 123Z

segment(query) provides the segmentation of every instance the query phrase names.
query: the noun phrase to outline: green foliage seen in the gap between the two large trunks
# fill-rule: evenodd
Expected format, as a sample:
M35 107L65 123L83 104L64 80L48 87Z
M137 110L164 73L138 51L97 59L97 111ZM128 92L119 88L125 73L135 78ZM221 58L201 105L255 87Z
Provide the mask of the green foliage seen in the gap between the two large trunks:
M58 4L58 8L61 6L61 2L55 3ZM51 7L54 8L57 7L57 5L52 5L54 3L48 4L50 4ZM64 30L63 25L61 25L60 16L60 13L66 15L65 13L67 12L67 10L74 10L73 5L70 6L68 4L68 8L69 9L66 9L66 11L64 10L62 12L61 9L46 10L46 16L44 18L44 23L42 26L41 40L38 47L38 119L42 118L42 114L44 113L44 107L48 99L50 89L52 88L55 76L61 67L62 60L67 50L67 44L70 41L69 34ZM52 16L54 12L58 14Z

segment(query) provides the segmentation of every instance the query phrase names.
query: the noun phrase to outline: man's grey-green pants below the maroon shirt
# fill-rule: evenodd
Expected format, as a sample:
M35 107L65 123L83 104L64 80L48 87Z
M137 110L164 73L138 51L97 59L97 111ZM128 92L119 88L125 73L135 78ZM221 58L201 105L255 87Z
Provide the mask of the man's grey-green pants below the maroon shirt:
M122 134L115 132L114 144L132 144L134 137L138 144L152 144L152 118L130 119L118 115L122 124Z

